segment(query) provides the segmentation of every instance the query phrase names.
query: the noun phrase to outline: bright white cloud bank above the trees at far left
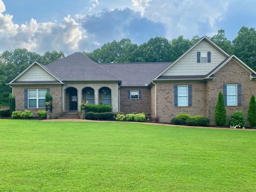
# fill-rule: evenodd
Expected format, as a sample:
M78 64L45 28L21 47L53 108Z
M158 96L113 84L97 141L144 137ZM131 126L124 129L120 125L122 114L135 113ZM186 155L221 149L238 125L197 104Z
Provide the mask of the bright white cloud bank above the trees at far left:
M0 0L0 10L5 6ZM82 39L80 24L76 23L69 15L62 24L54 22L37 23L31 18L29 24L21 26L12 22L12 15L0 13L0 52L27 48L32 52L43 54L47 50L64 51L73 53L79 50L79 41Z

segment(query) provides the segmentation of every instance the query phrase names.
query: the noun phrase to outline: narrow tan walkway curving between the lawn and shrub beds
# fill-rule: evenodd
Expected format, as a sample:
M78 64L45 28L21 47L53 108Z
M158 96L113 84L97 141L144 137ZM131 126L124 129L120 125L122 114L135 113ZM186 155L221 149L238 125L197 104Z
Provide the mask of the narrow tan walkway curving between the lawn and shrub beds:
M104 121L104 120L88 120L88 119L45 119L42 121L73 121L73 122L121 122L121 123L143 123L143 124L151 124L151 125L160 125L160 126L175 126L175 127L186 127L186 128L205 128L205 129L230 129L230 130L248 130L248 131L256 131L256 129L234 129L234 128L226 128L226 127L201 127L201 126L184 126L184 125L173 125L173 124L164 124L164 123L155 123L155 122L124 122L124 121Z

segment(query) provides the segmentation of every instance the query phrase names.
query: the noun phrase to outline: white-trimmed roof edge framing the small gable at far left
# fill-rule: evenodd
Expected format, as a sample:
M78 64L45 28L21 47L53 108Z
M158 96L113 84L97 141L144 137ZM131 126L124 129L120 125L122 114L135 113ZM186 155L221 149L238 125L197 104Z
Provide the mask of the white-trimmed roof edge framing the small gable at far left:
M42 70L46 71L50 76L52 76L52 78L54 80L50 80L50 81L18 81L19 78L21 78L24 74L26 74L26 72L28 72L31 68L33 68L34 66L39 66ZM9 84L44 84L44 83L48 83L48 84L64 84L61 80L59 80L58 77L56 77L54 74L52 74L50 71L48 71L42 64L40 64L39 62L35 61L33 62L30 66L28 66L28 68L26 68L22 73L20 73L16 78L14 78Z

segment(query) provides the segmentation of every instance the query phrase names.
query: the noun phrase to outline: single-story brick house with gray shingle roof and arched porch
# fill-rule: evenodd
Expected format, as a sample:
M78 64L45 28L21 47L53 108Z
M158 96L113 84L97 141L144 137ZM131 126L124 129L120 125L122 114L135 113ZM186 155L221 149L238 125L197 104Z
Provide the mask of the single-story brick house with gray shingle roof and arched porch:
M145 112L170 122L180 112L209 117L221 91L228 119L235 110L247 116L256 72L202 37L175 62L101 63L80 52L41 65L31 64L9 85L16 110L36 113L45 107L45 93L53 96L53 114L77 111L82 101L110 104L113 112Z

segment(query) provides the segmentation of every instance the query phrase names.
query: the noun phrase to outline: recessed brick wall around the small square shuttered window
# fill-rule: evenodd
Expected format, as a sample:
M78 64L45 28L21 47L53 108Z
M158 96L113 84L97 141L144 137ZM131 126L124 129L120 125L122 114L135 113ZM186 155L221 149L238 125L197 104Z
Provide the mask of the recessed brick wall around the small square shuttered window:
M141 99L128 99L128 90L141 90ZM125 114L137 112L150 112L150 88L122 88L120 87L120 112Z

